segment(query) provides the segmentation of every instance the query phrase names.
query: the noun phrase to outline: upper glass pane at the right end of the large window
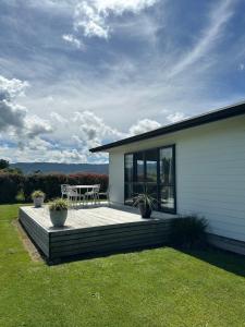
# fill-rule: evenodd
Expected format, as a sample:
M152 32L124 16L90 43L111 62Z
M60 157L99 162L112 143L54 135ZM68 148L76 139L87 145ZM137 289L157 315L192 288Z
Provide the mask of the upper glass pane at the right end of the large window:
M173 184L173 149L172 147L160 149L160 183Z

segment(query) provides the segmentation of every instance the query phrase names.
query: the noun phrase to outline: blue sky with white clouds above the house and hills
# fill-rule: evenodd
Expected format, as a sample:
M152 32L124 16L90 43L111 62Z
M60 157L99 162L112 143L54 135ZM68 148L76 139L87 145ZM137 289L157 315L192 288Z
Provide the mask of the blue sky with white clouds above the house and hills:
M0 158L89 148L245 99L244 0L0 0Z

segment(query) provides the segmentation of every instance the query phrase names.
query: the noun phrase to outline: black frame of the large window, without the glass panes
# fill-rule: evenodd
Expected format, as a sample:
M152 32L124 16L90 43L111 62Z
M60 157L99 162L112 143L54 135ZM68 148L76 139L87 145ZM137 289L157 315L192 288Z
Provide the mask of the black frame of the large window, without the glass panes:
M163 148L171 148L172 149L172 160L173 160L173 199L174 199L174 207L173 208L167 208L167 207L162 207L160 204L160 190L161 190L161 182L160 182L160 149ZM130 205L128 203L126 203L126 184L132 184L132 186L134 186L134 184L139 184L137 181L135 181L135 169L136 169L136 165L135 165L135 159L134 159L134 155L138 154L138 153L143 153L143 158L144 158L144 182L143 184L147 184L146 182L146 158L145 158L145 154L147 152L150 150L156 150L157 152L157 201L158 201L158 206L157 206L157 210L158 211L162 211L162 213L168 213L168 214L176 214L176 156L175 156L175 144L169 144L169 145L162 145L162 146L158 146L158 147L151 147L151 148L146 148L146 149L142 149L142 150L136 150L136 152L130 152L130 153L125 153L124 154L124 204L125 205ZM132 182L126 182L125 181L125 161L126 161L126 156L127 155L133 155L133 180ZM154 183L152 183L154 184Z

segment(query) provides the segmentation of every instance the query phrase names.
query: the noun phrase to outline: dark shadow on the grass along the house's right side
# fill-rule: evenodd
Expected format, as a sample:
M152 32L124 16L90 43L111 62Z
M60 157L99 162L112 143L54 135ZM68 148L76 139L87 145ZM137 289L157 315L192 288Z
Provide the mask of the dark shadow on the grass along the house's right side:
M238 255L229 251L220 250L213 246L208 246L203 250L180 250L187 255L194 256L212 266L221 268L225 271L245 277L245 256Z

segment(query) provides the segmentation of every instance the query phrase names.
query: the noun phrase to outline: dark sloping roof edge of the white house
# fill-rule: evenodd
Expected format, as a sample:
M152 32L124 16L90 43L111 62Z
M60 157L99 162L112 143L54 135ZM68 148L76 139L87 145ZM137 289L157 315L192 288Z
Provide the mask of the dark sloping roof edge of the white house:
M106 145L94 147L90 149L90 152L91 153L106 152L108 149L111 149L113 147L118 147L121 145L143 141L143 140L148 140L148 138L160 136L160 135L166 135L169 133L186 130L189 128L207 124L210 122L232 118L232 117L244 114L244 113L245 113L245 102L240 102L240 104L235 104L232 106L220 108L218 110L208 111L206 113L195 116L195 117L179 121L173 124L164 125L160 129L152 130L150 132L146 132L146 133L126 137L126 138L123 138L123 140L117 141L117 142L112 142L112 143L109 143Z

